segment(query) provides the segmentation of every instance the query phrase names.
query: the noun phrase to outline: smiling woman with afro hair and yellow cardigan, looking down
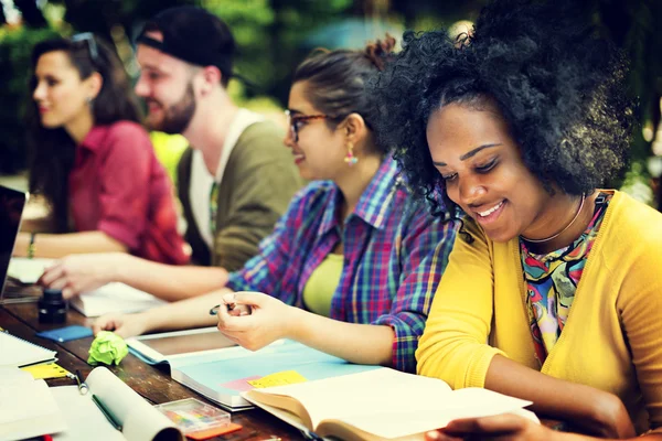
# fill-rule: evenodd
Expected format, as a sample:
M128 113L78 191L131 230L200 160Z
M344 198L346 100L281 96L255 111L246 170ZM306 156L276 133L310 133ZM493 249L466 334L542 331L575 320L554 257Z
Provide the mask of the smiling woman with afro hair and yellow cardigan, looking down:
M503 415L429 439L662 440L662 215L601 190L628 150L626 64L572 3L494 1L459 43L407 33L373 82L378 142L465 213L418 373L581 433Z

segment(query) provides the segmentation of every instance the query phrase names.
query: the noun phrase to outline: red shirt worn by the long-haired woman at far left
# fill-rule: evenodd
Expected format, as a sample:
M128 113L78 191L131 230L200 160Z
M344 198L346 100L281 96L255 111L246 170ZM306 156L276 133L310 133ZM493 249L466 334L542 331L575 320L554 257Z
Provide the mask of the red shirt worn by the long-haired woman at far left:
M68 184L77 232L104 232L149 260L189 261L177 232L172 183L140 125L93 127L76 148Z

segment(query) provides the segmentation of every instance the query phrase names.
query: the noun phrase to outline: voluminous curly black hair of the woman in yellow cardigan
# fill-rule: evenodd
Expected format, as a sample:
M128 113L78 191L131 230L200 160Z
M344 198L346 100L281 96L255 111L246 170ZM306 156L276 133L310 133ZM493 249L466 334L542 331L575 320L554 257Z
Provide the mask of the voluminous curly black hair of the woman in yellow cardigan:
M426 139L430 115L457 103L501 110L528 170L547 191L590 193L626 164L632 130L623 55L573 0L496 0L472 35L406 32L403 51L370 84L377 142L417 194L452 207Z

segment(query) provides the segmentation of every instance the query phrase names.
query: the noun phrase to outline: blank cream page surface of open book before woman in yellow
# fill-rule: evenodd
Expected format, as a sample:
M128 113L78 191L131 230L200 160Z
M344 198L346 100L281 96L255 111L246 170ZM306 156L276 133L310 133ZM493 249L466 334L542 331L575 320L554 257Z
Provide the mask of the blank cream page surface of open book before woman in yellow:
M389 368L250 394L259 392L296 398L308 410L313 427L338 419L383 438L419 433L453 419L498 415L531 404L487 389L452 391L439 379Z

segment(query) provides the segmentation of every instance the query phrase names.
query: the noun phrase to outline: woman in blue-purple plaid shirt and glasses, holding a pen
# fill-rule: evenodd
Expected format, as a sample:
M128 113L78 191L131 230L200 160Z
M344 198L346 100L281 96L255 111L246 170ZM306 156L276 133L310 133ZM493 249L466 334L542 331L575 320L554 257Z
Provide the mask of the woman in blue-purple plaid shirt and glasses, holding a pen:
M413 372L456 224L414 202L389 151L374 142L364 86L393 44L318 52L298 67L285 143L314 182L293 198L259 254L218 280L223 290L103 316L95 331L128 336L217 322L250 349L288 337L350 362ZM138 281L136 268L125 265L117 280ZM216 304L217 318L210 315Z

